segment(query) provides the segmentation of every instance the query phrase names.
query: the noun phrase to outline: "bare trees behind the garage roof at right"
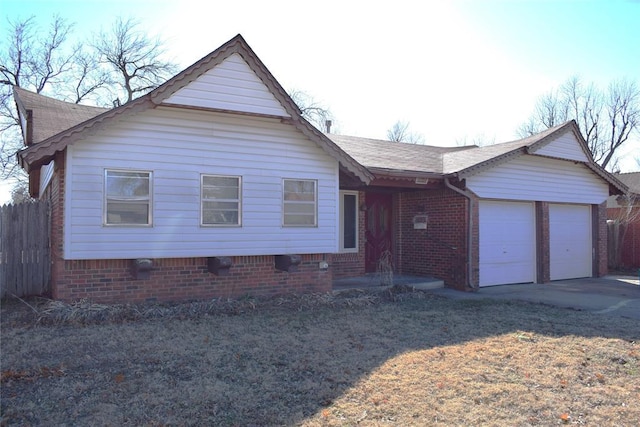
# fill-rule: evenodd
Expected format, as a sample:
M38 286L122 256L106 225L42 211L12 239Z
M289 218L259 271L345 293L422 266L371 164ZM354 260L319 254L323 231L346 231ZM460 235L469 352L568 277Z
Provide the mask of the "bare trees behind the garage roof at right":
M640 130L640 89L623 79L601 90L571 77L538 99L518 133L526 137L571 119L578 124L594 160L611 169L616 165L616 151Z

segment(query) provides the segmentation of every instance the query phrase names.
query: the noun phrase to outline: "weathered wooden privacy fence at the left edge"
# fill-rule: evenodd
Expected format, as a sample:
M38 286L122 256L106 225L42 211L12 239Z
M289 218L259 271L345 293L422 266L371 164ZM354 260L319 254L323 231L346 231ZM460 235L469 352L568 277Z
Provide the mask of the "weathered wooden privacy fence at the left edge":
M0 207L0 298L50 290L49 204Z

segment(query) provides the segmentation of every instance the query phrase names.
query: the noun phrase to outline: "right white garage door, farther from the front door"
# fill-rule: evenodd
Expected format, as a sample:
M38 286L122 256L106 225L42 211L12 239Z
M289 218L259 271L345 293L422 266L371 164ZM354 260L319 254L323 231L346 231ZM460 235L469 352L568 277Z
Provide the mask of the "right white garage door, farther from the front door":
M551 280L591 277L591 207L549 205Z

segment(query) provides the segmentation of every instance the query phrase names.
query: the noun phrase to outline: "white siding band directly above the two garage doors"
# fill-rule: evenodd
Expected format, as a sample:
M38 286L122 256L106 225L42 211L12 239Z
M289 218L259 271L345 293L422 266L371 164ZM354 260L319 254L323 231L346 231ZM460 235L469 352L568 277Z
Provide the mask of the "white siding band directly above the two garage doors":
M525 155L467 178L478 197L523 201L600 204L607 183L585 165Z

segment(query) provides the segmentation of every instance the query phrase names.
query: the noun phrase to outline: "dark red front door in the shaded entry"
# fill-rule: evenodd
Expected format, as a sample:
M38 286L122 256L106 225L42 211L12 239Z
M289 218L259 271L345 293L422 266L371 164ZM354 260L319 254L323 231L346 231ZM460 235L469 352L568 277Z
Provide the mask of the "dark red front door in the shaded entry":
M391 195L367 193L365 197L365 269L373 273L384 251L391 250Z

